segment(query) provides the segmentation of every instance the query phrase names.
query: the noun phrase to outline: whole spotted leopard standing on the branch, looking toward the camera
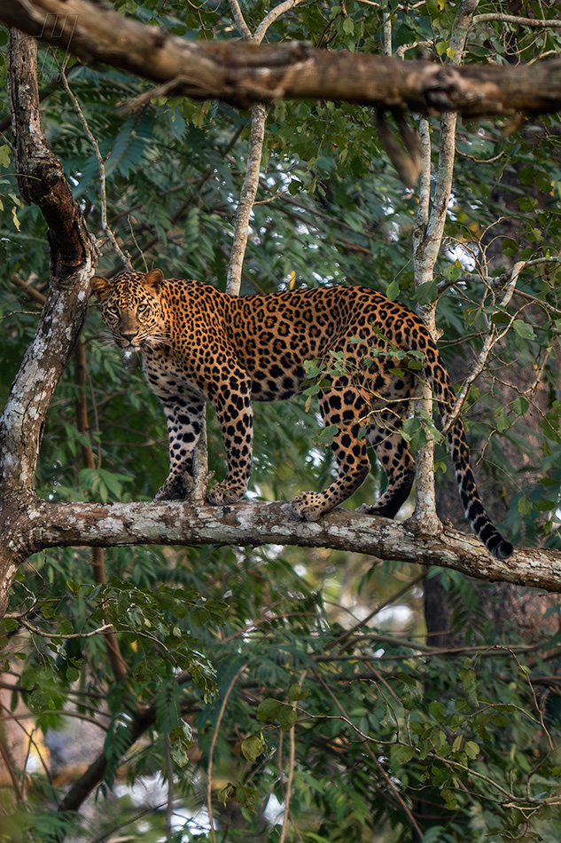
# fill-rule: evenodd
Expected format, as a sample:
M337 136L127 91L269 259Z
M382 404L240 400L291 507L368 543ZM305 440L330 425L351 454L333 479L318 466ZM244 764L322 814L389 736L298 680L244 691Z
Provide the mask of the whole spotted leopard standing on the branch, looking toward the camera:
M334 431L338 473L321 492L290 501L292 516L317 521L348 500L371 470L368 446L386 472L386 490L362 512L394 518L409 497L415 460L402 425L417 382L428 382L444 426L456 402L437 345L417 314L371 288L339 284L230 295L198 280L164 277L160 269L94 276L93 295L125 352L142 357L147 381L168 424L169 473L155 500L188 500L193 453L206 404L214 406L226 477L206 492L213 506L238 502L252 469L253 401L283 401L319 380L323 423ZM401 353L400 353L401 351ZM417 368L402 352L417 360ZM333 360L338 366L331 366ZM513 552L479 497L464 422L448 426L448 450L465 515L498 559Z

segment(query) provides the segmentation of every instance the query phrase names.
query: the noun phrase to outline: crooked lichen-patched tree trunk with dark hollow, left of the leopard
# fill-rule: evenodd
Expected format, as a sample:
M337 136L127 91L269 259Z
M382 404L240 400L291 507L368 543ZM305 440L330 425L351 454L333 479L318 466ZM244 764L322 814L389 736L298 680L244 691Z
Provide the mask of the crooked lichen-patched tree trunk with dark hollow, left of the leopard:
M36 50L33 38L12 30L8 78L15 169L22 196L38 205L49 226L51 288L0 418L0 617L26 555L13 524L35 500L44 419L82 329L97 266L95 243L41 129Z

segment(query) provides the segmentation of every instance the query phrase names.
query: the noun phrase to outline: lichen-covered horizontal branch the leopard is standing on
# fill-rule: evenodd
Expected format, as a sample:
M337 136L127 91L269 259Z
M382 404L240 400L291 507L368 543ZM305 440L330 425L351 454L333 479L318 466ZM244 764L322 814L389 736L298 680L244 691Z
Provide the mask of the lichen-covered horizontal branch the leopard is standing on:
M35 499L11 524L8 547L19 555L70 546L299 545L349 550L422 565L438 565L471 577L561 591L561 553L523 548L506 562L480 541L442 524L428 534L412 522L390 521L336 509L317 523L294 519L287 503L253 502L227 507L166 503L53 503Z

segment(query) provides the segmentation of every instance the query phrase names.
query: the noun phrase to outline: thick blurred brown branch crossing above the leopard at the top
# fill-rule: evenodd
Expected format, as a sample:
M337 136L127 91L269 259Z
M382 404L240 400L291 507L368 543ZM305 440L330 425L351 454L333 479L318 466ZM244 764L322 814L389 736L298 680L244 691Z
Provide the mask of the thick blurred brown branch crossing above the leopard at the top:
M516 67L454 67L303 42L256 44L191 41L87 0L2 0L0 23L105 62L191 98L240 107L277 98L335 99L466 117L561 108L561 60Z

